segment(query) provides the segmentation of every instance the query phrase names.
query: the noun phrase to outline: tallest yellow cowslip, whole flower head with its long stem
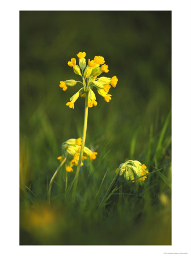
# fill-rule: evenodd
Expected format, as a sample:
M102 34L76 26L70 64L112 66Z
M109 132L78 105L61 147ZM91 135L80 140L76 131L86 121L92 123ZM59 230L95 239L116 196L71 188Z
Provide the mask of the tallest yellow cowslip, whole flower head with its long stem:
M75 86L77 83L83 85L82 88L78 90L71 98L70 101L66 103L66 106L69 108L74 109L74 103L80 97L85 97L85 109L84 109L84 125L83 125L83 133L82 133L82 146L80 149L77 172L74 178L74 187L73 187L73 201L75 201L75 192L77 189L78 184L78 176L80 170L80 164L82 162L84 145L86 141L86 131L87 131L87 119L88 119L88 108L92 108L93 106L97 106L96 96L93 91L94 88L97 89L97 93L99 93L106 102L111 100L112 95L108 94L111 85L116 87L117 84L117 77L113 76L112 78L109 77L99 77L101 73L108 73L108 65L104 64L105 60L102 56L95 56L94 60L88 60L88 65L86 64L86 52L79 52L77 54L79 58L79 66L77 65L77 61L75 58L72 58L71 61L68 61L68 65L73 67L74 73L82 77L81 81L75 80L66 80L60 82L60 87L62 90L67 90L68 86ZM100 67L101 65L101 67Z

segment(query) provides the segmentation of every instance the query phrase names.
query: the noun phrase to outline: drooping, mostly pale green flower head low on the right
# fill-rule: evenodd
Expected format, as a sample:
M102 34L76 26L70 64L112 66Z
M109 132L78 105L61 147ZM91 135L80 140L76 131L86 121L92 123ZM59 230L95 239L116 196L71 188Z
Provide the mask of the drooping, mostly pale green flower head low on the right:
M146 174L148 174L148 171L146 168L145 164L142 164L137 160L128 160L127 162L120 164L118 171L127 181L130 180L134 182L134 180L138 179L139 183L142 183L142 181L147 178Z

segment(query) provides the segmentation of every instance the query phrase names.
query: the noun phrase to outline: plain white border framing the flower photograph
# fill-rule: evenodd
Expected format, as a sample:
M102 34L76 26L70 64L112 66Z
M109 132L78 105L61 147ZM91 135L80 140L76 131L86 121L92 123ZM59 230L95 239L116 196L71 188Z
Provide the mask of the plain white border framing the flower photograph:
M70 1L67 1L70 2ZM1 255L190 255L190 1L4 1L1 7ZM2 5L2 3L1 3ZM94 5L94 7L92 7ZM19 10L172 10L172 246L19 246Z

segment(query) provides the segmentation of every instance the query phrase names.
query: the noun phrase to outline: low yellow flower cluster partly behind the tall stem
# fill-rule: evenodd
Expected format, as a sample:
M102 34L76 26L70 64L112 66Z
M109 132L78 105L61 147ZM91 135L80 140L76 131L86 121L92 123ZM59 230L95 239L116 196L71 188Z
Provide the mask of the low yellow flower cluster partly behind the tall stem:
M60 162L62 162L63 159L66 157L67 172L73 172L73 166L78 165L81 144L82 144L81 138L68 139L66 142L62 143L63 155L58 156L57 159L60 160ZM90 158L90 160L95 160L96 155L97 155L97 152L92 152L90 148L84 147L82 161L86 160L88 157ZM83 162L81 163L81 166L83 166Z

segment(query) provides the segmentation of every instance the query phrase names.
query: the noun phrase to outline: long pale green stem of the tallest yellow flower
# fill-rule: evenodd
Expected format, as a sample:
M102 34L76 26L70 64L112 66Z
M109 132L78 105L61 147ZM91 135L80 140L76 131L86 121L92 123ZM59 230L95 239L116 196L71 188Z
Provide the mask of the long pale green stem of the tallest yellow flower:
M88 92L86 92L86 100L85 100L82 145L81 145L80 154L79 154L77 172L76 172L75 177L74 177L74 187L73 187L73 193L72 193L73 202L75 202L75 193L77 191L77 184L78 184L78 176L79 176L80 164L82 163L83 148L84 148L84 144L85 144L85 141L86 141L87 117L88 117Z

